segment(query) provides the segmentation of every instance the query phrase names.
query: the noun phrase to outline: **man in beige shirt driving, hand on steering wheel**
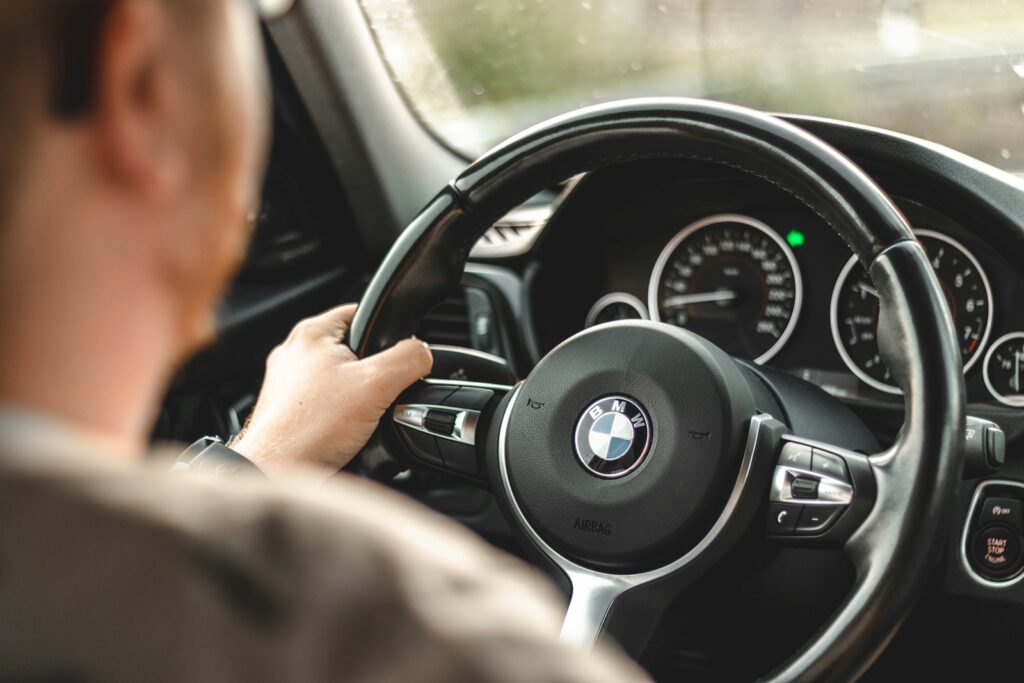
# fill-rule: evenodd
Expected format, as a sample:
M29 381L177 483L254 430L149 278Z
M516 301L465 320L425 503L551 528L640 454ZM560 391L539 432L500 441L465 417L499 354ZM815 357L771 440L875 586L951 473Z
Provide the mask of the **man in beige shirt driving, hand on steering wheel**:
M260 58L247 0L0 4L0 679L641 678L558 643L515 560L324 481L431 362L415 340L357 360L352 307L268 360L233 445L271 481L141 464L244 252Z

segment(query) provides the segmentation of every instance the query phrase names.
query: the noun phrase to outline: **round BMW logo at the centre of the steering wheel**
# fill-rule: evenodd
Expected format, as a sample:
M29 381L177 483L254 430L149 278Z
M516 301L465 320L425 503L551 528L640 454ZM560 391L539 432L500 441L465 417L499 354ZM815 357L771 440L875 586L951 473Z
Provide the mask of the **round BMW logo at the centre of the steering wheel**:
M577 423L575 452L591 473L610 479L640 466L650 437L650 419L639 403L607 396L591 404Z

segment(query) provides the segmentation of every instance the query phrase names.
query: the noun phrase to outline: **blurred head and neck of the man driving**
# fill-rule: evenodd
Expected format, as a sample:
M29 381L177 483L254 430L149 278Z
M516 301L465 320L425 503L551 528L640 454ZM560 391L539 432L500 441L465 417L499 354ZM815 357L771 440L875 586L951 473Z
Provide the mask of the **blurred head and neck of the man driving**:
M251 0L0 0L0 404L144 438L245 252L267 109Z

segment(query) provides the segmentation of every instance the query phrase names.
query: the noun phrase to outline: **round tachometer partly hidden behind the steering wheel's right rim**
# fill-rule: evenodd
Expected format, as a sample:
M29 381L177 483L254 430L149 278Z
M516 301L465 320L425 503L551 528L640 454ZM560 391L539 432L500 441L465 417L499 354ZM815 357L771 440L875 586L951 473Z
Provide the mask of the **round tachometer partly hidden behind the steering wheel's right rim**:
M942 286L961 346L964 372L969 371L988 340L992 327L992 290L974 254L952 238L914 230ZM836 348L854 375L888 393L900 393L879 353L879 293L867 271L852 257L833 292L831 329Z

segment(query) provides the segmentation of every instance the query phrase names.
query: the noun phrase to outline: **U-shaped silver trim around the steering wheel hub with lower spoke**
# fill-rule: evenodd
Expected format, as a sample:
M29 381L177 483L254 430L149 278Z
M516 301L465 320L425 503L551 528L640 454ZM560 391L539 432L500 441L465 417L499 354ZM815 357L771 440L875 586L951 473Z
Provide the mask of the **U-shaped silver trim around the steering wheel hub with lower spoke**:
M622 594L632 588L660 579L686 566L707 550L722 532L722 529L732 517L733 512L739 504L743 489L746 487L754 461L755 445L758 442L761 429L765 423L774 420L774 418L763 414L751 418L746 445L743 450L736 483L732 487L729 500L726 502L722 514L719 515L715 524L700 542L679 559L657 569L639 573L617 574L585 567L560 554L541 538L526 519L522 508L519 507L509 479L508 450L506 447L509 422L511 421L512 411L518 399L519 387L516 388L512 400L509 401L508 408L505 410L505 415L502 416L501 427L498 432L498 465L501 472L502 485L508 495L512 511L519 525L525 530L530 541L534 542L541 552L547 555L565 572L569 579L569 583L572 585L572 595L565 613L565 621L562 624L560 639L563 642L571 643L585 649L591 649L597 644L611 606Z

